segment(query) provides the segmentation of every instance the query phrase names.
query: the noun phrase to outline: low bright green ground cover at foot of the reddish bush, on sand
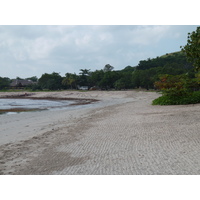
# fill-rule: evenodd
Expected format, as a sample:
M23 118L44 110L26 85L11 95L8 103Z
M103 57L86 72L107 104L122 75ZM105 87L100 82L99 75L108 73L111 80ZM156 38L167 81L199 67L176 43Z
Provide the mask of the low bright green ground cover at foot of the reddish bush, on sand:
M200 91L185 96L163 95L153 100L152 105L186 105L200 103Z

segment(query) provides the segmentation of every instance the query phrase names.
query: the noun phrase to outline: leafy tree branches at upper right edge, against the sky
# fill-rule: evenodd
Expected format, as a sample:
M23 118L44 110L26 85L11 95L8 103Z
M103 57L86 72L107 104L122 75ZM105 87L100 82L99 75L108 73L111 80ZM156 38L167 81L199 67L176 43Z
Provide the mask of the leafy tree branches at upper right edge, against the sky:
M189 62L192 62L196 70L200 70L200 26L196 31L188 33L187 44L182 47Z

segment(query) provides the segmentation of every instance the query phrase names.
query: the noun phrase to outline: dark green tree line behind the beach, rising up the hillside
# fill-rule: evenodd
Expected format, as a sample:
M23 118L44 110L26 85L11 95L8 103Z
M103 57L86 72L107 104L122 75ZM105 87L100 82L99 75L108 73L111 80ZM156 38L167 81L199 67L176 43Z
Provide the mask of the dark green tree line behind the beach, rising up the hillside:
M189 73L192 77L195 73L194 68L188 63L184 53L176 52L148 58L140 61L137 66L127 66L122 70L114 70L113 66L106 64L101 70L80 69L79 74L66 73L64 77L57 72L44 73L39 79L36 76L27 78L35 82L27 87L32 90L78 89L80 86L101 90L155 89L154 82L158 81L160 74L184 73ZM0 77L0 89L9 88L11 81L7 77Z

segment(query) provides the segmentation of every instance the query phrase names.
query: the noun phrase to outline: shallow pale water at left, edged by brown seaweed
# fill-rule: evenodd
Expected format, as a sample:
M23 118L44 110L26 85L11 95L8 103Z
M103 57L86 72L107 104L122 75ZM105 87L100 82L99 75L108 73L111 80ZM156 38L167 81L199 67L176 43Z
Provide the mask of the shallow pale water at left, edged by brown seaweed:
M63 108L74 103L67 100L38 100L38 99L0 99L0 110L9 109L54 109Z

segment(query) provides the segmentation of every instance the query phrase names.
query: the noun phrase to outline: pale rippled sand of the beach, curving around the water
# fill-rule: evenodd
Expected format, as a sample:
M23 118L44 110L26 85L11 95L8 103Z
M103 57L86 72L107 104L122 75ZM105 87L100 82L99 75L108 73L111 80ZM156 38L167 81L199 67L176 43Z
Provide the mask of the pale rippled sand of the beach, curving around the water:
M10 94L1 93L0 96ZM144 91L34 93L98 99L0 115L1 174L200 174L200 105L152 106Z

